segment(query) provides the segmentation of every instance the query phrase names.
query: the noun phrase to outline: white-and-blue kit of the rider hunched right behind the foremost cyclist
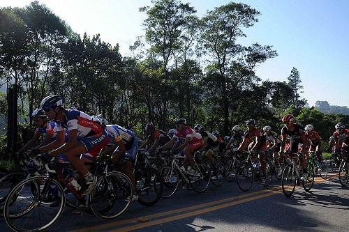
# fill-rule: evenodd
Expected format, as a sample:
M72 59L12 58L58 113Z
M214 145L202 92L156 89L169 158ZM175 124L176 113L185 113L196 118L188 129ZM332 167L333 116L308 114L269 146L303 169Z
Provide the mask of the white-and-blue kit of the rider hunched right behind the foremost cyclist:
M131 130L127 130L119 125L106 125L105 130L107 130L112 144L117 141L123 141L125 144L126 152L121 157L127 157L134 161L138 148L138 138L135 137L135 134Z

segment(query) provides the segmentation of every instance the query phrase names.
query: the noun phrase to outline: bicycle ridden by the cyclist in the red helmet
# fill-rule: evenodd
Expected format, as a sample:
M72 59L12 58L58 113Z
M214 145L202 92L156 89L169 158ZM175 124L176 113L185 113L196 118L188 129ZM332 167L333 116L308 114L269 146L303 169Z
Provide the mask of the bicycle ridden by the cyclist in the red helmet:
M296 157L292 157L295 156ZM302 153L296 153L290 155L291 160L290 163L286 165L285 169L283 169L281 186L283 190L283 194L287 197L292 196L293 192L295 192L296 181L301 180L302 174L302 166L300 165L299 156L303 155ZM303 188L306 192L309 192L313 187L314 183L314 167L313 163L308 160L306 162L306 173L308 177L306 180L302 180Z

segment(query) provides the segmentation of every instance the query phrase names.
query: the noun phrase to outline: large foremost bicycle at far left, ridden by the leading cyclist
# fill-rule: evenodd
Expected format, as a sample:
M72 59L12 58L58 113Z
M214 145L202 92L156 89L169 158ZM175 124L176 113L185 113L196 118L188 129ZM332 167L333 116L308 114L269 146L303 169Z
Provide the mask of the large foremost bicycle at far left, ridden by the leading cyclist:
M57 158L53 162L44 161L40 155L35 159L45 163L45 176L23 180L10 191L4 204L6 224L14 231L43 231L57 222L66 205L65 187L76 197L79 204L77 208L84 211L91 209L94 215L102 219L118 217L131 203L133 188L131 180L124 173L104 173L87 199L84 199L80 192L67 183L66 178L57 178L54 171ZM53 197L50 189L56 191Z

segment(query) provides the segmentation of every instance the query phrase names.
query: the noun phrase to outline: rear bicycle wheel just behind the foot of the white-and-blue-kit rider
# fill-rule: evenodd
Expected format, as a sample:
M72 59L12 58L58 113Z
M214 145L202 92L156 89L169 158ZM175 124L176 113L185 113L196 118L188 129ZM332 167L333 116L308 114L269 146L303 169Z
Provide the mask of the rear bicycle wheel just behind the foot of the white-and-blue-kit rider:
M153 168L138 170L135 175L138 203L142 206L153 206L163 194L163 180Z

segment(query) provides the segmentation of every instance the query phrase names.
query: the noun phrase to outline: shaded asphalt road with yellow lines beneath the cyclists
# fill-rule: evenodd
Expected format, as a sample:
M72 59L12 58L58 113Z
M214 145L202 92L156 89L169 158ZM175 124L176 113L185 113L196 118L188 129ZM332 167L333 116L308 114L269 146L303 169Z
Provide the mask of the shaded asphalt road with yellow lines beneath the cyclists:
M179 190L149 208L133 202L124 215L108 221L66 208L49 231L348 231L349 187L329 175L315 178L311 192L297 187L290 198L282 194L280 180L267 189L254 183L249 192L235 181L210 185L204 194ZM0 230L9 231L3 219Z

